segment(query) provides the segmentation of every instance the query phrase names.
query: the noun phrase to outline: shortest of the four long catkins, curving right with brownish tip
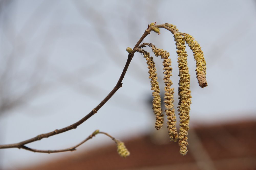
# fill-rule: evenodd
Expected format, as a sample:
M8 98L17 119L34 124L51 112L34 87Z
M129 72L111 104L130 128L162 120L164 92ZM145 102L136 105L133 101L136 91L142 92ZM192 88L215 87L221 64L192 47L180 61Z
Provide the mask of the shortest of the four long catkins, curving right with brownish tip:
M207 86L207 81L206 81L206 61L204 58L204 53L201 50L200 45L198 44L195 39L189 35L185 34L184 40L188 44L189 48L193 51L194 53L194 58L196 60L196 77L198 80L198 84L200 87L204 88Z

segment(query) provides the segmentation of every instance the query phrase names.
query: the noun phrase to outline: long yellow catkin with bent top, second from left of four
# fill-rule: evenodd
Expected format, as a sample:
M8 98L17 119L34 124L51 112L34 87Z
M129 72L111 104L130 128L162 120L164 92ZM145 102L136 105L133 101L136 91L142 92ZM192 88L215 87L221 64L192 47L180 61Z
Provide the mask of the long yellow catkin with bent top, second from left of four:
M167 128L168 128L168 135L170 140L177 141L178 140L178 133L176 128L176 115L174 111L174 88L170 88L170 86L173 84L170 80L170 76L172 76L172 67L171 67L171 60L169 59L169 53L167 51L164 51L163 49L156 48L154 45L151 46L153 53L155 53L156 56L161 56L164 66L164 83L165 83L165 97L164 97L164 103L165 103L165 113L167 115Z

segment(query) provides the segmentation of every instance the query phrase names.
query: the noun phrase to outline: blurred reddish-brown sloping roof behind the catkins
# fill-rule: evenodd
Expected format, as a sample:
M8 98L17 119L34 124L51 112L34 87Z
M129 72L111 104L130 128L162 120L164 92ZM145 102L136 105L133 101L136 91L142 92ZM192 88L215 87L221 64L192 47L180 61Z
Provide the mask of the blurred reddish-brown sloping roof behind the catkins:
M124 141L131 152L126 159L117 154L113 144L26 169L255 170L255 129L256 121L190 129L185 156L179 154L178 143L157 145L150 135L145 135Z

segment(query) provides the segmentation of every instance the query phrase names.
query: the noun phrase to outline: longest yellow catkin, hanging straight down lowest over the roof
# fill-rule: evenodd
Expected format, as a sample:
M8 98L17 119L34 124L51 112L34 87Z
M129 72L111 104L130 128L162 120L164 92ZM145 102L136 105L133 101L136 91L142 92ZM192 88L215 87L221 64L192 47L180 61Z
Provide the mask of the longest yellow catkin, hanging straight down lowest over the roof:
M180 132L179 132L179 146L180 154L187 153L188 145L188 129L189 129L189 110L191 104L191 91L190 91L190 75L188 72L187 52L185 41L182 35L174 33L178 54L178 67L179 67L179 118L180 118Z

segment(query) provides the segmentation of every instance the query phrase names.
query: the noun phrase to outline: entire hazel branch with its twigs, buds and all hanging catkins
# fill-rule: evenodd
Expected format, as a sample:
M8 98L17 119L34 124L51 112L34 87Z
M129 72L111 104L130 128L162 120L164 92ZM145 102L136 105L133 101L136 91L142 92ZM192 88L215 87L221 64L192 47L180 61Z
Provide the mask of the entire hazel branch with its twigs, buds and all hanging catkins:
M151 31L154 31L158 34L160 34L160 29L164 28L168 31L170 31L175 38L176 42L176 48L177 48L177 55L178 55L178 67L179 67L179 89L178 89L178 96L179 96L179 103L178 103L178 111L179 111L179 118L180 118L180 130L179 134L177 133L176 128L176 115L174 111L173 106L173 94L174 94L174 88L170 88L170 86L173 84L170 80L170 76L172 76L172 67L171 67L171 59L169 59L169 53L167 51L164 51L163 49L156 48L151 43L142 43L144 38L150 34ZM188 65L187 65L187 53L185 51L185 42L189 45L190 49L194 53L194 58L196 60L196 74L197 79L200 87L206 87L206 62L204 59L203 52L201 50L200 45L194 40L194 38L186 33L179 32L175 25L165 23L161 25L156 25L156 22L152 22L148 25L148 28L145 30L141 38L138 40L136 45L132 48L128 47L126 48L126 51L129 53L127 61L125 63L124 69L119 77L118 82L116 83L115 87L110 91L110 93L94 108L90 113L88 113L86 116L84 116L82 119L77 121L76 123L73 123L67 127L64 127L62 129L56 129L52 132L40 134L37 135L34 138L30 138L24 141L21 141L19 143L13 143L13 144L7 144L7 145L0 145L0 149L3 148L22 148L28 151L32 152L41 152L41 153L56 153L56 152L66 152L66 151L75 151L77 147L82 145L87 140L91 139L93 136L101 133L108 137L110 137L113 141L115 141L117 145L117 151L120 156L123 158L126 158L130 155L130 152L126 149L123 142L115 139L114 137L110 136L109 134L105 132L99 132L99 130L94 131L90 136L88 136L86 139L78 143L77 145L66 148L66 149L60 149L60 150L37 150L32 149L27 146L25 146L27 143L35 142L38 140L41 140L42 138L48 138L50 136L54 136L63 132L66 132L71 129L77 128L80 124L88 120L92 115L98 112L98 110L115 94L115 92L122 87L122 81L124 79L124 76L126 74L126 71L131 63L131 60L134 56L135 52L142 53L144 55L144 58L147 61L148 65L148 73L149 78L151 79L151 90L153 90L153 110L154 114L156 115L156 123L155 127L156 129L160 129L163 126L163 114L161 109L161 97L160 97L160 90L159 85L157 82L157 74L155 69L155 63L153 61L153 57L150 57L150 54L141 49L145 46L150 46L155 56L161 56L164 66L164 83L165 83L165 107L166 107L166 115L167 115L167 127L169 130L169 137L170 140L177 141L179 139L179 146L180 146L180 153L182 155L185 155L187 153L187 145L188 145L188 129L189 129L189 110L190 110L190 104L191 104L191 91L190 91L190 75L188 72ZM141 44L141 45L140 45Z

